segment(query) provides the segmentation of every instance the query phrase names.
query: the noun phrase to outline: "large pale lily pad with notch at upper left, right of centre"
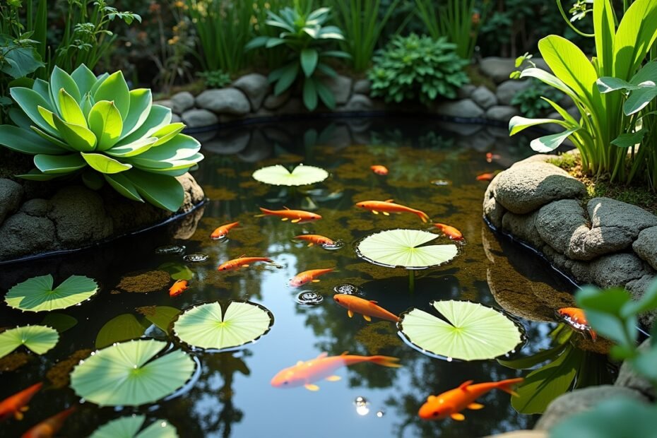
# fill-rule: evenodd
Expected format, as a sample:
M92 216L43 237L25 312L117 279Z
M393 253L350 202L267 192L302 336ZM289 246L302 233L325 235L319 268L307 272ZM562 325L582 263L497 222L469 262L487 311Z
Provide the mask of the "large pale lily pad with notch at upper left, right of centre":
M490 307L468 301L434 301L446 319L420 309L401 316L401 334L415 348L460 360L483 360L507 354L522 342L519 326Z

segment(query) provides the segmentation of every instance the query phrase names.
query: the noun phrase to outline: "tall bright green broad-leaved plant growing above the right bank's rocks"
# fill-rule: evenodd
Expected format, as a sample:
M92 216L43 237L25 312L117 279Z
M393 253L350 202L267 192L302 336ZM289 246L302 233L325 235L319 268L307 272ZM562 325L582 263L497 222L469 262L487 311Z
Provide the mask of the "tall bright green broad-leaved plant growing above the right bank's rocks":
M555 74L531 67L523 70L520 75L521 78L537 78L571 97L581 118L574 119L556 102L546 100L559 112L562 120L516 116L509 122L509 132L514 135L530 126L558 124L564 131L535 138L531 142L533 150L547 153L569 138L581 153L584 172L598 176L610 174L612 182L632 182L636 175L645 174L646 179L655 187L657 159L653 155L657 153L657 141L654 141L652 134L637 134L637 122L653 131L653 115L647 114L650 107L626 115L623 109L629 96L608 93L611 91L608 86L601 83L598 88L597 83L602 77L616 78L627 83L632 83L633 78L637 80L635 74L638 74L646 54L657 39L657 0L634 1L617 26L614 16L610 0L594 2L593 25L597 56L593 61L589 61L572 42L550 35L540 40L538 47ZM639 93L639 96L641 99L636 100L644 101L648 94ZM643 119L643 116L649 117ZM644 137L639 138L641 136ZM640 145L638 153L636 143ZM632 152L629 159L628 149Z

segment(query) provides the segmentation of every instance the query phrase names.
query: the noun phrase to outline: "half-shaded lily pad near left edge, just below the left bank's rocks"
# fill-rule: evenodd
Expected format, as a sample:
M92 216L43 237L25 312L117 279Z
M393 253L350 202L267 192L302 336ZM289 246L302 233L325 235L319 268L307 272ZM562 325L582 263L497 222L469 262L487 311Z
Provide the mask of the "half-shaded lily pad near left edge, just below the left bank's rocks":
M11 288L4 300L14 309L42 312L66 309L88 300L98 292L96 282L83 276L70 276L55 289L52 284L50 274L30 278Z

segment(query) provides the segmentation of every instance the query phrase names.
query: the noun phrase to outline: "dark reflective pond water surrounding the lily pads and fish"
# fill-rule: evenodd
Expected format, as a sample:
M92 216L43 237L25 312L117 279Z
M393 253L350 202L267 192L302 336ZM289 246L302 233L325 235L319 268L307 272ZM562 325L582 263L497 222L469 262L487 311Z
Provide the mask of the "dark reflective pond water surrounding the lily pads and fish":
M119 314L143 319L140 307L185 309L200 302L239 299L271 310L275 321L266 336L229 353L191 353L201 364L198 377L155 405L133 409L83 403L61 434L85 436L108 420L137 412L168 420L183 437L478 437L530 428L535 416L516 413L509 395L501 391L480 398L485 408L467 411L463 422L420 420L418 408L430 394L470 379L495 381L527 373L494 360L445 362L422 355L401 341L393 323L367 322L358 315L350 319L332 300L333 288L344 283L357 285L364 297L377 300L393 313L409 307L428 309L431 300L448 299L499 308L497 299L519 316L526 329L528 343L523 355L550 345L548 333L555 323L546 321L552 318L555 303L568 304L572 286L543 261L504 238L498 240L485 227L481 203L487 183L475 180L482 172L504 169L528 155L528 147L502 136L496 138L493 134L499 135L499 131L495 129L456 126L466 134L458 135L446 128L454 126L428 119L354 119L276 122L244 126L218 136L200 134L206 160L194 176L209 201L182 225L161 227L80 254L0 266L2 293L30 276L47 273L52 273L56 284L76 274L93 277L102 287L92 301L60 311L75 317L78 324L61 333L53 350L42 356L28 355L25 365L0 374L0 398L37 381L49 385L49 370L78 350L94 349L97 333ZM492 162L488 162L487 152L494 154ZM250 176L264 165L299 162L331 172L329 179L315 184L317 191L309 196L282 193ZM390 174L372 174L369 166L374 164L388 166ZM437 179L449 184L430 183ZM354 208L357 201L370 199L395 199L426 211L437 222L454 225L466 237L461 254L445 266L418 272L415 291L410 293L406 271L357 259L353 242L376 230L430 227L415 215L372 215ZM316 208L323 219L295 225L278 218L254 218L259 206ZM209 239L215 227L235 220L242 225L233 229L227 240ZM326 251L290 240L307 232L341 239L345 246ZM448 242L442 238L439 243ZM155 248L167 244L182 244L184 254L206 254L208 261L155 254ZM271 256L283 268L255 264L235 273L216 271L220 262L241 254ZM182 295L169 297L167 288L172 281L165 286L156 281L154 292L119 291L117 286L126 274L158 270L167 263L187 266L194 274L191 287ZM302 288L287 285L297 272L329 267L339 271L323 276L320 283ZM299 304L297 295L302 291L322 295L324 300L315 306ZM0 306L1 326L37 324L42 318L20 314L4 302ZM153 333L157 333L153 327L146 331ZM298 360L344 351L399 357L403 367L365 363L342 368L337 372L340 381L320 381L317 392L302 387L274 388L269 383L276 372ZM85 354L78 352L78 358ZM48 375L54 378L52 372ZM66 377L66 371L59 377ZM368 410L365 415L357 413L355 401L360 398L367 401L367 409L360 408L360 414ZM0 434L16 436L76 401L66 386L46 389L32 399L22 422L8 420Z

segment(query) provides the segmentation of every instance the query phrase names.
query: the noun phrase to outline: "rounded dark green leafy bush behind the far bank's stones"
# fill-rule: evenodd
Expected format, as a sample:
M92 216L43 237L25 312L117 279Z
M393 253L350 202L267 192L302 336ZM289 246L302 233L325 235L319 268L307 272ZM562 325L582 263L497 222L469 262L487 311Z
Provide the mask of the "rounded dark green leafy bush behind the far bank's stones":
M372 95L386 102L420 99L428 105L436 97L456 97L456 90L468 83L463 67L469 64L455 52L456 45L446 37L410 34L396 36L374 57L374 67L367 73L372 81Z

